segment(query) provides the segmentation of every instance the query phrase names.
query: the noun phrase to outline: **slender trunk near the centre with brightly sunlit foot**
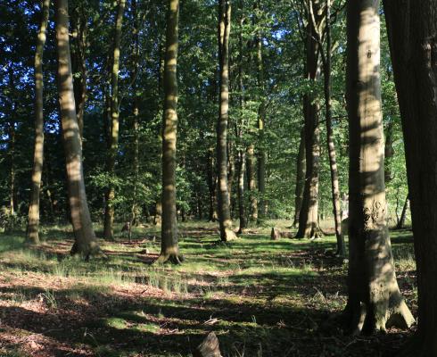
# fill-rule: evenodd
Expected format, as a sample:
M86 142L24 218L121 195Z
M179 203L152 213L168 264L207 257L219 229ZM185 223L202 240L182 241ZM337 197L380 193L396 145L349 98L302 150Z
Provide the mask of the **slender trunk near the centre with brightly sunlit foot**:
M229 0L219 0L219 70L220 102L217 125L218 212L220 238L226 242L235 237L232 229L227 184L227 120L229 118L229 34L231 5Z

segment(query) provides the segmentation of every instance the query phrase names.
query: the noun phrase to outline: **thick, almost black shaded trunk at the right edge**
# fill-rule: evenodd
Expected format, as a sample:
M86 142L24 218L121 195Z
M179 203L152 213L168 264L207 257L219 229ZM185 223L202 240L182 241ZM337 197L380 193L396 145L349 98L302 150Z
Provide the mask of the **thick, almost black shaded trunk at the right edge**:
M437 355L436 0L384 1L404 135L416 255L417 331L404 355Z

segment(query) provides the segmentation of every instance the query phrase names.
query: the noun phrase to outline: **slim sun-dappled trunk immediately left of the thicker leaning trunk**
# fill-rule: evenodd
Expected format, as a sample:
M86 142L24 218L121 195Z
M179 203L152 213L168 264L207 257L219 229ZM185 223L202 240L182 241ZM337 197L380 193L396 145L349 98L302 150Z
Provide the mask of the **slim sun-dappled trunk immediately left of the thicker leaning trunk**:
M43 53L45 32L49 16L50 0L43 1L42 20L37 36L35 53L35 147L32 168L32 186L30 187L29 220L26 240L39 244L39 193L41 191L41 175L44 161L44 97L43 97Z

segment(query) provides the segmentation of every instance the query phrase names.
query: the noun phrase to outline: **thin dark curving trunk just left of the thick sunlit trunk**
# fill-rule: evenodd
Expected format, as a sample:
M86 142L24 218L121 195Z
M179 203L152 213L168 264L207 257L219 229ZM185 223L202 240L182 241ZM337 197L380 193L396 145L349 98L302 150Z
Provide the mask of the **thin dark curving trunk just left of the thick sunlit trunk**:
M337 254L344 256L344 239L342 237L342 217L340 208L340 185L338 183L338 169L335 157L333 110L331 104L331 0L326 1L326 56L324 62L325 106L326 106L326 142L331 171L331 190L333 195L333 213L335 237L337 238Z

